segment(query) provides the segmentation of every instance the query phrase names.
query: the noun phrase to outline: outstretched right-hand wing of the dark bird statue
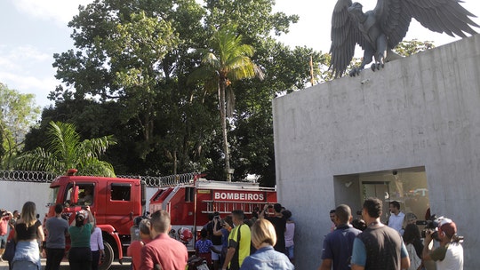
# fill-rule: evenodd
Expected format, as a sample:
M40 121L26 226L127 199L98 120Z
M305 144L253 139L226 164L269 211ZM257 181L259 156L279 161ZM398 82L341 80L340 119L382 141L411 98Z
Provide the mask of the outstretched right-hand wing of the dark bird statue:
M460 0L379 0L375 15L388 36L388 47L400 43L412 18L422 26L449 36L475 35L472 26L479 27L469 17L476 17L460 5Z

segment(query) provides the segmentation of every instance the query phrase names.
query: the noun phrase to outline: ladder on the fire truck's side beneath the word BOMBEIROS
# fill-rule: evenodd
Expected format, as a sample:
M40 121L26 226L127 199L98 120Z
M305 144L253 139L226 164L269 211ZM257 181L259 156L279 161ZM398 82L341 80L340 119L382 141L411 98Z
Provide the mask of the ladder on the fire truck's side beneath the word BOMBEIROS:
M232 210L243 210L245 214L252 214L255 209L262 210L265 204L272 204L269 202L241 202L241 201L207 201L204 200L202 203L206 203L206 210L203 210L203 213L213 213L219 212L220 214L229 214Z

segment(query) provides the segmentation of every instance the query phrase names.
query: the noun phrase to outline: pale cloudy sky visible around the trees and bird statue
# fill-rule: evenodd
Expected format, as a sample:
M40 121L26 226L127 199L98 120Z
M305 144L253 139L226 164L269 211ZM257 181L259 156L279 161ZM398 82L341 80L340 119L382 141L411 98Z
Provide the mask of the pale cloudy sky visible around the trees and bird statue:
M420 0L419 0L420 1ZM376 0L358 0L364 12L372 10ZM68 21L78 13L79 4L92 0L1 0L0 1L0 83L21 93L33 93L36 104L52 104L47 99L60 81L52 67L53 53L74 49ZM284 44L307 46L328 52L333 6L336 0L276 0L275 12L297 14L300 20L286 35ZM464 0L462 5L480 16L480 1ZM479 18L473 20L480 25ZM480 28L476 28L480 32ZM452 43L459 37L437 34L412 21L404 40L433 41L436 46Z

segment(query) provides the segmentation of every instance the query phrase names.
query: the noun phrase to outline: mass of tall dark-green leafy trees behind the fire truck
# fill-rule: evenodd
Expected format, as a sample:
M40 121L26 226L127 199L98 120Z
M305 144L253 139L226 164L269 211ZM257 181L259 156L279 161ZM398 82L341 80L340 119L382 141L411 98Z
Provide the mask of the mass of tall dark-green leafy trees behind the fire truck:
M221 123L230 135L235 178L257 174L263 185L275 185L271 100L305 87L309 55L318 82L324 55L307 48L291 50L270 37L287 32L298 20L272 12L274 3L96 0L81 7L69 23L76 48L54 56L56 77L66 86L52 91L55 107L44 110L40 128L28 136L27 149L46 145L39 134L50 121L75 123L82 138L115 135L118 144L103 156L117 173L203 171L209 179L223 180L224 129L218 112L228 100L231 117ZM220 40L215 43L215 38L231 22L238 26L224 33L231 34L224 35L231 43L216 46ZM229 46L236 44L242 44L244 52L231 54ZM210 57L203 58L207 54L202 52ZM256 65L253 69L239 68L249 60ZM220 72L206 62L229 66L220 69L228 74L224 83L231 83L225 88L225 103L218 99ZM260 74L260 68L263 81L238 80ZM188 83L201 69L199 77L212 80Z

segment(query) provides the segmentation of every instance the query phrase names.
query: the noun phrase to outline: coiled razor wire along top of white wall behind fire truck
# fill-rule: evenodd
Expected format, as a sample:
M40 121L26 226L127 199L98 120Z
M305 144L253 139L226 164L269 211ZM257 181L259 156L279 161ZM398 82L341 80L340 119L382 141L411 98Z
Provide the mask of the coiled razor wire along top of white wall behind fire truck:
M168 176L131 176L117 175L120 179L141 179L147 187L171 187L192 181L198 172L188 172ZM0 181L51 183L58 175L46 171L9 171L0 170Z

